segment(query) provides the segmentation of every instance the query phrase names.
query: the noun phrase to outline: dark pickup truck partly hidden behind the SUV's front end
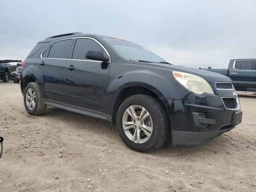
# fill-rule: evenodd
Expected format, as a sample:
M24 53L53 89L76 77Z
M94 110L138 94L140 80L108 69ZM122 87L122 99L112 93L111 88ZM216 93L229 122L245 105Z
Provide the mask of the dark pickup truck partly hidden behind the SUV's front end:
M256 92L256 59L232 59L228 69L203 69L231 78L238 91Z

